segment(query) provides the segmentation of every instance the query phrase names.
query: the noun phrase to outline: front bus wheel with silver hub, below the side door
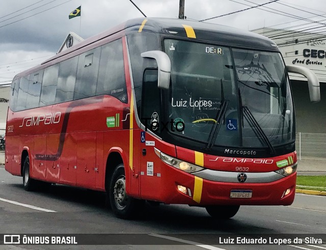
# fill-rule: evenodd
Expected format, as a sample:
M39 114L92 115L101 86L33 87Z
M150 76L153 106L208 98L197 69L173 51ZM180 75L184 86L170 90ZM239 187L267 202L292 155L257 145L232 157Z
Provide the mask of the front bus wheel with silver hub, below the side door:
M113 172L108 199L114 214L122 219L134 218L144 201L128 197L126 194L126 177L124 165L119 164Z

